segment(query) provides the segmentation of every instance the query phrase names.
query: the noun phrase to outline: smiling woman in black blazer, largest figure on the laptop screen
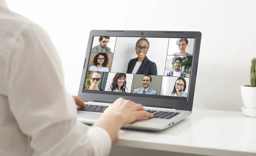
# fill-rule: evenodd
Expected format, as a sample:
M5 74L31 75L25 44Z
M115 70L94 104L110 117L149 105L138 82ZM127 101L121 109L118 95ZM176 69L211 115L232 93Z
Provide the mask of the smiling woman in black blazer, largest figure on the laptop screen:
M148 49L149 41L147 38L140 38L137 40L135 50L138 57L129 61L126 73L157 75L157 65L150 61L146 56Z

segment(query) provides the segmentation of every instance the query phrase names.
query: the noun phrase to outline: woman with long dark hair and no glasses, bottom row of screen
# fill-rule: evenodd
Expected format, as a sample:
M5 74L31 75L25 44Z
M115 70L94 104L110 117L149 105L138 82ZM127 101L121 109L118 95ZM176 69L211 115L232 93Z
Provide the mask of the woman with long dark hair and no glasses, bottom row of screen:
M126 74L125 73L116 73L114 76L112 83L107 91L111 92L128 92L128 88L126 87Z

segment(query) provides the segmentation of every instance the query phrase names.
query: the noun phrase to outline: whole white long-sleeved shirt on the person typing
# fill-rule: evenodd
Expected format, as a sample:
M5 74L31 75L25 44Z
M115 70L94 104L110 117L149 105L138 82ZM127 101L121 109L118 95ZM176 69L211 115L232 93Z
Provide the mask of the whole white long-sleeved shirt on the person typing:
M76 120L44 30L0 0L0 156L107 156L111 138Z

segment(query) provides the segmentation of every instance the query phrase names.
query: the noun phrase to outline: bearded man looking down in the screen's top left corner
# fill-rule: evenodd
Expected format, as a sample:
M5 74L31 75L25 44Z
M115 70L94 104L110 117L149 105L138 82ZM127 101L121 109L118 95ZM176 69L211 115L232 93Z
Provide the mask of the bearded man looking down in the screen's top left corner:
M99 37L99 45L94 46L91 52L105 52L105 53L112 53L111 49L107 46L109 43L109 36L100 36Z

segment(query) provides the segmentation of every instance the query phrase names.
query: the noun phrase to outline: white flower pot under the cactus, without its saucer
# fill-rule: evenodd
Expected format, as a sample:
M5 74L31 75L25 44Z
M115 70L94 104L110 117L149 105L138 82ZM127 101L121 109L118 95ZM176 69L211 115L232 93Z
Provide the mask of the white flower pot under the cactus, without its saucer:
M241 96L245 109L256 110L256 87L241 85Z

